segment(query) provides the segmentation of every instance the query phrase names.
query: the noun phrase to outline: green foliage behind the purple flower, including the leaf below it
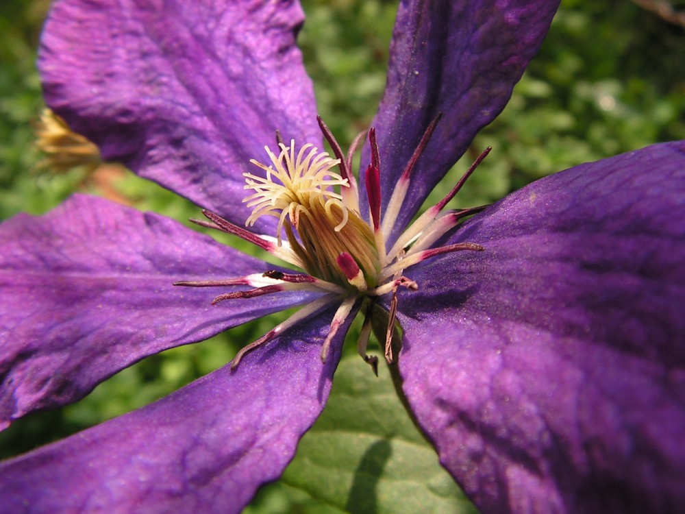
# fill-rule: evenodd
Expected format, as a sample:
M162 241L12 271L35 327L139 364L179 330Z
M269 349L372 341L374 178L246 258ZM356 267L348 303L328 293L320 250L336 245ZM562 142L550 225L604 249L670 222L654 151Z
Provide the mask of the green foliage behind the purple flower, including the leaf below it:
M387 0L303 4L308 21L300 42L320 112L345 147L369 126L382 95L397 5ZM0 4L0 219L21 210L41 214L73 191L111 195L86 180L83 170L36 171L40 156L32 143L33 124L42 100L34 62L48 7L45 0ZM683 27L628 0L562 1L543 49L508 107L445 180L449 187L474 155L493 146L456 205L495 201L580 162L685 139L684 53ZM197 216L195 206L134 175L109 186L141 210L177 220ZM433 199L443 194L436 191ZM259 320L151 356L82 402L17 421L0 435L0 456L21 454L149 404L221 367L277 321ZM262 489L249 511L416 512L416 505L399 501L403 498L415 498L425 512L472 509L388 388L386 373L375 379L361 360L346 357L324 416L303 439L283 480Z

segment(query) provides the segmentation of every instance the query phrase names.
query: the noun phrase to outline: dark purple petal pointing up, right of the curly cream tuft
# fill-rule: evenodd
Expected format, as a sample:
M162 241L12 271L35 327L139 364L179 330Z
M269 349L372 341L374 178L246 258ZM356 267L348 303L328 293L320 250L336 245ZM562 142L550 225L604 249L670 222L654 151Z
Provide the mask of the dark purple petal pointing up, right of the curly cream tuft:
M397 230L412 219L475 134L509 101L558 4L556 0L400 4L388 85L372 123L381 149L384 206L429 123L439 112L444 116L414 170ZM360 169L366 169L368 162L366 157Z

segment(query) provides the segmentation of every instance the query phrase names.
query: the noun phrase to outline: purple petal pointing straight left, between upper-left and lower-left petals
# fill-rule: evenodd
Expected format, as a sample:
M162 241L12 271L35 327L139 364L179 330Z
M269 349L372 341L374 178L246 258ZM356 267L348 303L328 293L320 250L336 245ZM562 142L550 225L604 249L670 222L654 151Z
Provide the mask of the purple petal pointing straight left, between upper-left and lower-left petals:
M303 302L270 295L212 306L177 280L273 269L159 215L75 196L0 225L0 423L83 397L147 355ZM225 291L219 291L219 293Z

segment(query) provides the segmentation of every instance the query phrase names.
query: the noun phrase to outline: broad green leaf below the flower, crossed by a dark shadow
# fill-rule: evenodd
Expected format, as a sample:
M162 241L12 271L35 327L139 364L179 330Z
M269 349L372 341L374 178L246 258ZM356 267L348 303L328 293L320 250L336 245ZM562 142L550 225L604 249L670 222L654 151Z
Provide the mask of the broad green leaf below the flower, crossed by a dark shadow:
M352 513L475 513L412 424L388 369L343 358L330 400L282 482Z

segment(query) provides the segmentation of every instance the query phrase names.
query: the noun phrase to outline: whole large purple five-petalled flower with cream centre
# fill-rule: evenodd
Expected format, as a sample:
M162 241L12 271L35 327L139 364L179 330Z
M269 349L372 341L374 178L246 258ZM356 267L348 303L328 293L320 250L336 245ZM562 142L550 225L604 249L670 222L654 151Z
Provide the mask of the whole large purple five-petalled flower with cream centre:
M322 147L295 47L297 1L56 1L40 58L49 106L104 158L216 213L206 224L235 231L249 219L259 234L297 230L284 237L290 252L345 293L303 286L306 274L274 271L175 221L95 197L3 223L5 426L79 400L155 352L291 306L312 311L234 369L5 461L8 511L239 511L282 474L321 413L347 326L371 297L384 312L397 306L403 347L389 357L399 361L403 391L443 465L484 511L675 512L685 502L685 143L584 164L460 228L422 232L442 227L433 247L473 243L484 252L417 258L398 284L390 271L403 267L379 261L380 247L393 252L427 193L501 111L556 6L403 2L373 122L377 155L373 144L362 154L358 213L371 210L369 225L354 195L325 193L325 180L347 180L342 191L351 183L326 168L310 193L325 213L316 219L330 223L305 229L293 219L298 201L281 219L258 216L281 197L253 197L253 213L242 176L253 174L252 192L266 195L270 183L258 185L265 174L250 160L264 162L277 130L286 150L290 140ZM406 196L393 206L417 147ZM267 162L272 170L286 150ZM392 213L387 226L378 212ZM347 230L355 245L368 230L368 245L332 258L304 242L319 229ZM212 306L211 290L173 286L227 278L281 292ZM412 282L418 290L394 293Z

